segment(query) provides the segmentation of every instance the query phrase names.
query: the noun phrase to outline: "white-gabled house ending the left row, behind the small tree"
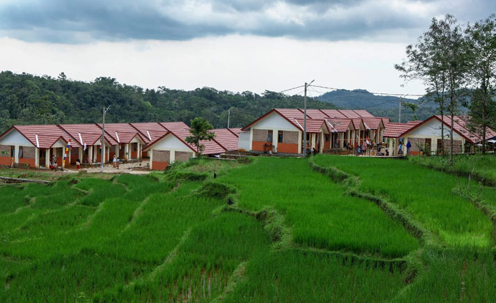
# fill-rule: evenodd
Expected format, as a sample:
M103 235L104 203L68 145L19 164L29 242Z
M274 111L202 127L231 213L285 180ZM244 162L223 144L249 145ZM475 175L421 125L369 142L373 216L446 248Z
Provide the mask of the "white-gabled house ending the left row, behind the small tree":
M192 157L197 157L196 147L186 142L189 137L189 128L187 130L169 130L162 137L148 143L144 151L148 151L150 156L150 169L164 170L169 164L176 161L186 162ZM204 146L202 155L220 155L226 152L217 141L200 141Z

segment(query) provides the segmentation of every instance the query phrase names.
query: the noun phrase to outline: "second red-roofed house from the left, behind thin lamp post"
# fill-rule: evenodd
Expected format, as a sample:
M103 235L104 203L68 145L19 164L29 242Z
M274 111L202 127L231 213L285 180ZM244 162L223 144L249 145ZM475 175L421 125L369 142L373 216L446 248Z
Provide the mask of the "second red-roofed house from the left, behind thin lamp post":
M79 147L72 148L70 163L75 164L77 159L88 164L101 161L102 129L98 125L94 123L59 124L59 127L72 138L72 141L79 143ZM116 155L119 156L119 148L117 141L107 131L105 131L104 139L105 161L108 162L111 159L110 151L117 150Z

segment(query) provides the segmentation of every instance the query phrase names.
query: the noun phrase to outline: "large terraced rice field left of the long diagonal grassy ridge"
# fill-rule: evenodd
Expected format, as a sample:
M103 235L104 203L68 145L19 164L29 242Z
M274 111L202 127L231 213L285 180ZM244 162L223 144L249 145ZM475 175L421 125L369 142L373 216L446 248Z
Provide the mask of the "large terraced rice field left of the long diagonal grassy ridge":
M417 241L375 205L343 197L304 161L219 163L194 161L148 177L0 187L7 197L0 209L0 301L370 302L392 299L405 286L404 261L305 248L384 256L416 249ZM267 169L285 171L284 177L238 186ZM290 181L293 170L303 171L303 187ZM256 195L260 183L275 193L272 202L266 192ZM290 186L279 192L283 183ZM254 192L244 196L247 191ZM239 205L226 205L229 192ZM339 219L340 212L353 222ZM353 227L362 222L382 235ZM282 241L276 236L282 224L291 224L282 228L293 228L300 240L274 249L281 248L274 244Z

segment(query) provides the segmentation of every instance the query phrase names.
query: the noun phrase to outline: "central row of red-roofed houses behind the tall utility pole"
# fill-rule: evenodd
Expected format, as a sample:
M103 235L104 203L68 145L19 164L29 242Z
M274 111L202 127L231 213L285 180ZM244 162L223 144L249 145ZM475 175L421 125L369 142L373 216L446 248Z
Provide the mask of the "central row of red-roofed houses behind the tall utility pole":
M303 109L272 109L242 128L240 148L271 153L353 148L364 139L381 142L389 118L365 110L307 109L307 139L303 140Z

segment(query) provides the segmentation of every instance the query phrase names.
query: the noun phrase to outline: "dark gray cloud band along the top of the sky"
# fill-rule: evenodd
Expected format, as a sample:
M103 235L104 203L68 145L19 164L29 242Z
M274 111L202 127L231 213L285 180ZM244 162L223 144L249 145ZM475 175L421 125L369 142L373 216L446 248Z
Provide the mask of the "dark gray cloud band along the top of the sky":
M474 22L495 10L491 0L467 4L463 0L11 1L0 5L0 35L68 43L189 40L235 33L373 39L383 37L381 33L394 37L394 33L427 29L434 15L453 13L460 21Z

